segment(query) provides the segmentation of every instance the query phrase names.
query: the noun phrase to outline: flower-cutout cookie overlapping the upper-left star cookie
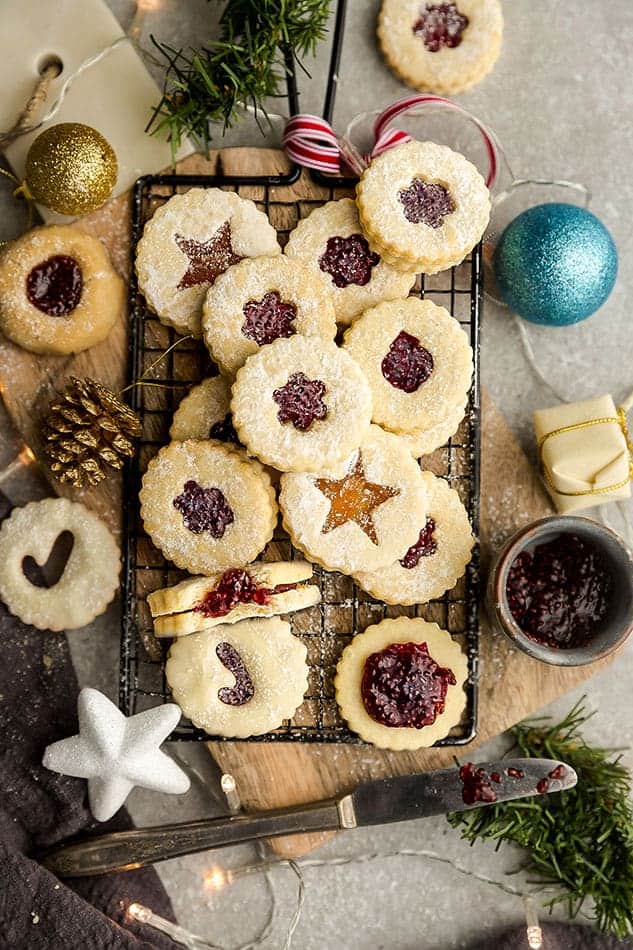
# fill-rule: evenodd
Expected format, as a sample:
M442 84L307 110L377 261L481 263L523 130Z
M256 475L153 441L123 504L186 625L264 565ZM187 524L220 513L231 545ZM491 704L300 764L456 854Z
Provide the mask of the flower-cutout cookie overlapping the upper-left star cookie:
M221 372L235 375L275 340L295 334L333 340L332 294L301 263L282 255L245 260L209 288L202 329Z

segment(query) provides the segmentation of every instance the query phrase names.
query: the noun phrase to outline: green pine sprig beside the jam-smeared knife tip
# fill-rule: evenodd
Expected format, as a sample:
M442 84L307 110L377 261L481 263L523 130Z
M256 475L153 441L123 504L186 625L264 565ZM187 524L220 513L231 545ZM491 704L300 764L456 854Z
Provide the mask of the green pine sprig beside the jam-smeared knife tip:
M601 930L623 939L633 934L630 776L616 750L582 737L589 718L581 701L558 724L537 720L513 730L522 755L571 765L575 788L454 813L449 821L471 844L488 839L525 848L532 883L557 888L548 905L565 904L571 917L582 908Z

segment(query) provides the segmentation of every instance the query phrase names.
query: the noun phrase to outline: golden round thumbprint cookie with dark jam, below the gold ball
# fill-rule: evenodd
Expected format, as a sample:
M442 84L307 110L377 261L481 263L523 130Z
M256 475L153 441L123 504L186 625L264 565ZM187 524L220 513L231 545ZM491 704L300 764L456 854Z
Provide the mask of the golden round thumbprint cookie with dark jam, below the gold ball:
M105 340L124 305L108 252L79 228L34 228L0 256L0 329L25 350L86 350Z

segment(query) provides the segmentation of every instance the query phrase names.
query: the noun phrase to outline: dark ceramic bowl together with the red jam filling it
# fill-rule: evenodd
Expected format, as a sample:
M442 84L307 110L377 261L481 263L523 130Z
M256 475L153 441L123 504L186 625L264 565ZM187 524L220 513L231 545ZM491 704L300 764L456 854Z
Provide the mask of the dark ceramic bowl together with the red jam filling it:
M544 663L582 666L633 629L633 553L589 518L543 518L512 537L486 592L497 629Z

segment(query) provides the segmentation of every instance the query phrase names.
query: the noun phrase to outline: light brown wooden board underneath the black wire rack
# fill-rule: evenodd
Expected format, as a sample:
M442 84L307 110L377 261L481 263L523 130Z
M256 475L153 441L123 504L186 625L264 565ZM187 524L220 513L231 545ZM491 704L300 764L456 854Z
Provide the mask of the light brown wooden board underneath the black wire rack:
M200 156L185 159L182 173L270 174L287 168L282 153L265 149L226 149L210 160ZM324 196L323 189L307 175L292 186L297 200ZM287 189L285 194L287 195ZM261 189L242 189L247 197L261 197ZM344 194L344 192L342 192ZM100 237L109 248L122 274L129 270L129 198L121 197L83 218L78 226ZM274 222L278 226L281 222ZM41 357L0 342L0 381L9 412L25 441L36 453L41 450L40 423L54 391L70 374L90 375L113 389L125 384L127 315L110 337L99 346L71 357ZM60 494L81 498L118 531L121 512L121 482L112 478L95 489L73 492L59 484ZM521 525L551 513L549 500L536 471L510 432L502 414L484 394L482 440L482 561L484 573L491 551ZM235 777L248 809L326 798L352 788L358 781L450 764L456 752L468 756L477 744L498 735L520 719L534 713L601 668L548 667L514 650L482 622L479 729L467 747L420 752L387 752L369 746L302 745L300 743L211 742L208 744L223 771ZM285 856L302 854L323 836L304 835L275 843Z

